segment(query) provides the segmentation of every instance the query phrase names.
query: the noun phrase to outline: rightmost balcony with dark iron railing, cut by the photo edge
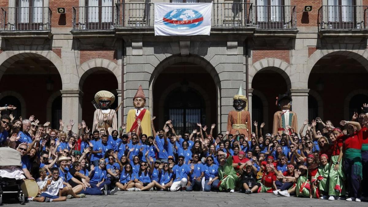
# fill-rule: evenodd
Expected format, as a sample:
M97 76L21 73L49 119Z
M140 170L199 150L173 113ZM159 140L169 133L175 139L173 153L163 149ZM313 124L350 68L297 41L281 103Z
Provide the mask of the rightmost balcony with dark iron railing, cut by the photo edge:
M319 35L368 36L368 6L322 6L319 8Z

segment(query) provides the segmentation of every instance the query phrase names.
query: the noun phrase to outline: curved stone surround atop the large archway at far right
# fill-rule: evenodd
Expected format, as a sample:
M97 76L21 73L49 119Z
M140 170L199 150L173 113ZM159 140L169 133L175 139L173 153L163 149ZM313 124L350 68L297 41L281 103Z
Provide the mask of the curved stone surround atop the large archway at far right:
M341 45L341 48L345 49L346 45ZM368 71L368 51L367 50L316 50L307 60L307 67L305 69L306 77L309 77L314 65L325 56L332 55L343 55L347 57L351 57L357 60L365 70ZM307 81L308 82L308 81Z

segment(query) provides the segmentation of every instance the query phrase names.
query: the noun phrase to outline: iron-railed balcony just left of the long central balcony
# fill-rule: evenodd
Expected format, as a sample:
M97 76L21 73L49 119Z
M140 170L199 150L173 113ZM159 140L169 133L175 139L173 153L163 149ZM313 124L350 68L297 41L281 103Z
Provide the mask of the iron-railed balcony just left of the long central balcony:
M73 7L72 34L79 37L114 36L114 6Z

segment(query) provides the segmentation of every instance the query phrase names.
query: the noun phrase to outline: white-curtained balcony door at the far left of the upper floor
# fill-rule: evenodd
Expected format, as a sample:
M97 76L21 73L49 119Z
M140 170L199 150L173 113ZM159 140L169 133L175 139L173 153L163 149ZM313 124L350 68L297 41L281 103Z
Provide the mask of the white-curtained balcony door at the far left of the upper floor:
M15 7L17 30L43 29L43 0L17 0Z

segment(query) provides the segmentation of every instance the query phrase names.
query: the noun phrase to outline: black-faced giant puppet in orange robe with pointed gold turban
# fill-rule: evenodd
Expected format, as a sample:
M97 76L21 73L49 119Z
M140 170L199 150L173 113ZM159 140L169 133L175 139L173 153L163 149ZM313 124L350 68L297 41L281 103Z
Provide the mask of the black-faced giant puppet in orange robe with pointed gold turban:
M236 134L238 130L240 134L249 137L251 132L251 115L248 112L248 99L243 95L243 88L239 87L238 93L234 95L233 107L235 110L229 112L227 116L227 131L230 134Z

